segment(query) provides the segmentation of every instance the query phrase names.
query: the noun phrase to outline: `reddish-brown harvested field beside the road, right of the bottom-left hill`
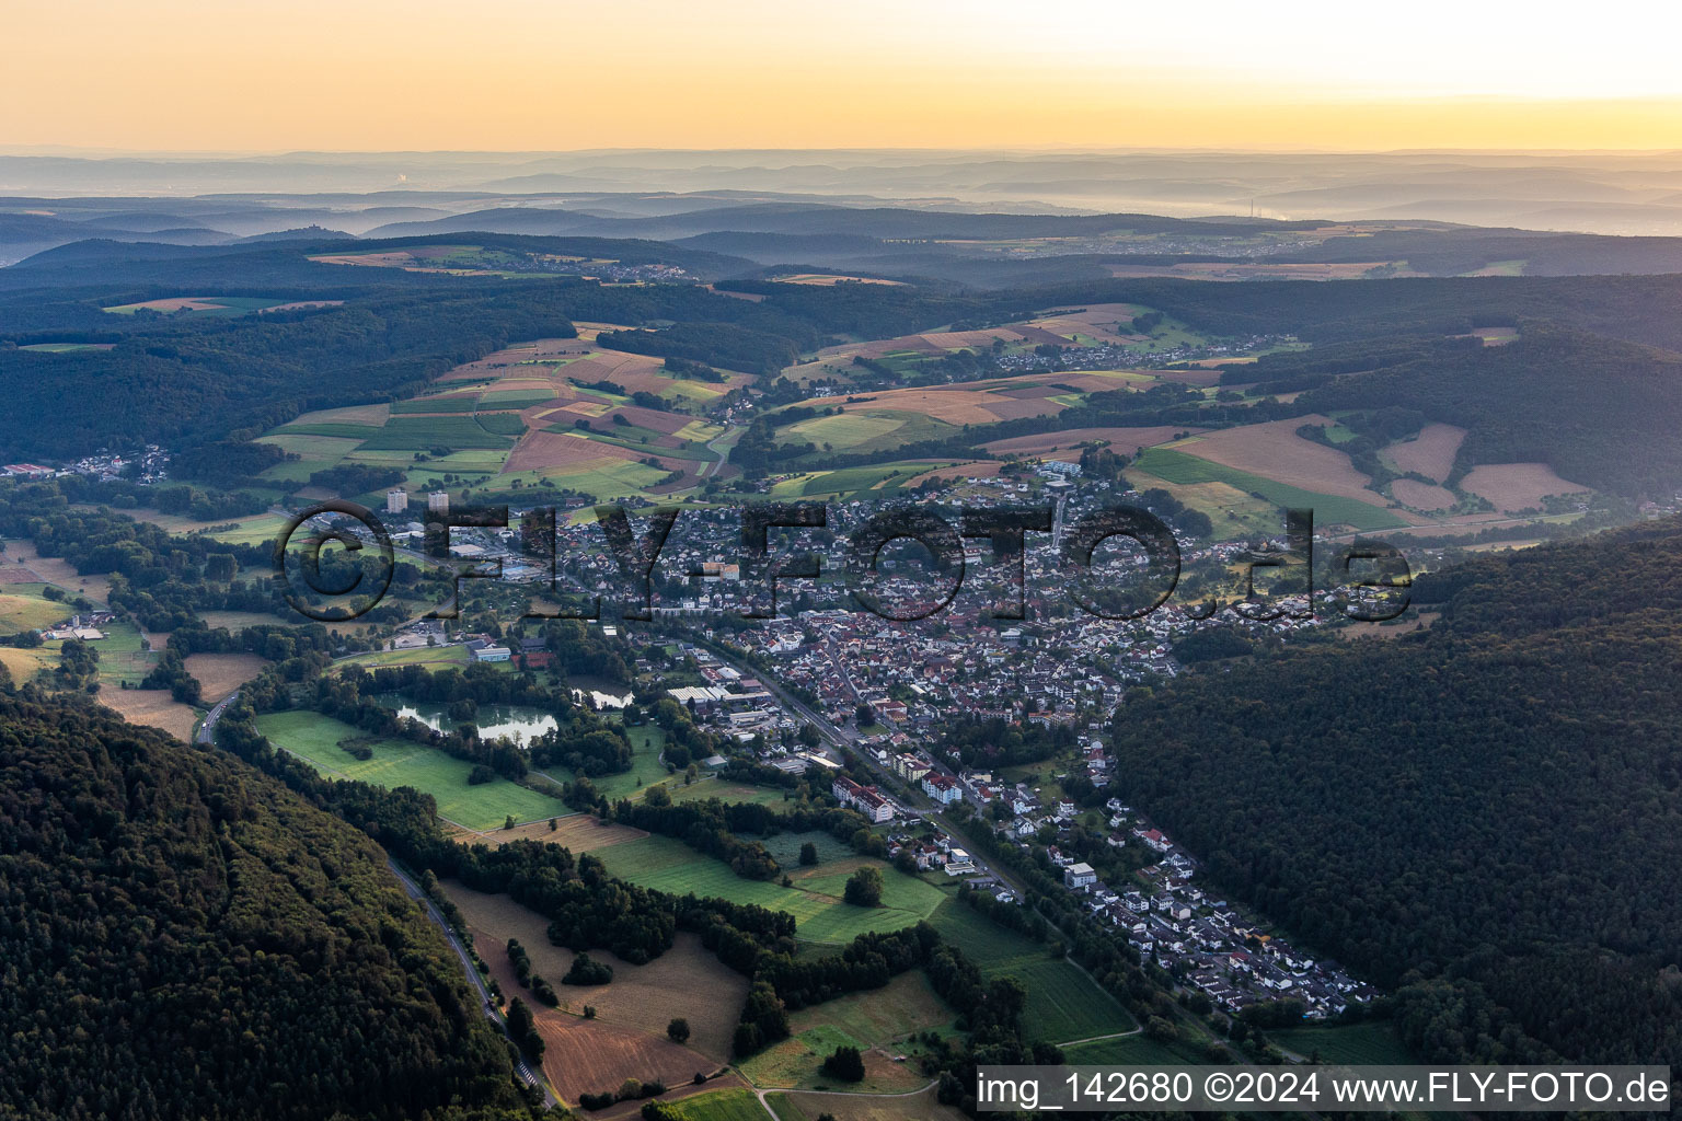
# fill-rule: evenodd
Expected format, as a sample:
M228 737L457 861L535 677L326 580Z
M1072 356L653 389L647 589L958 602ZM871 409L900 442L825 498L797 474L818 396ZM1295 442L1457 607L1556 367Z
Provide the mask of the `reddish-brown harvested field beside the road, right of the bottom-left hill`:
M590 958L612 966L609 985L562 985L560 978L572 968L577 956L563 946L548 941L548 919L530 911L508 896L491 896L458 882L446 882L444 892L461 908L473 931L474 950L491 966L491 975L503 993L523 993L508 965L508 939L518 938L532 958L532 970L548 980L560 995L560 1008L542 1010L543 1017L582 1020L584 1005L595 1008L594 1025L602 1025L658 1044L659 1069L626 1069L611 1082L587 1082L584 1091L607 1089L626 1077L661 1076L668 1086L688 1081L696 1071L711 1072L730 1059L730 1037L737 1015L747 1000L747 978L725 968L718 958L701 946L696 934L680 933L671 950L648 965L631 965L607 953L592 950ZM526 1003L542 1008L530 995ZM690 1042L683 1047L666 1039L666 1024L673 1017L690 1022ZM676 1066L669 1066L669 1064Z

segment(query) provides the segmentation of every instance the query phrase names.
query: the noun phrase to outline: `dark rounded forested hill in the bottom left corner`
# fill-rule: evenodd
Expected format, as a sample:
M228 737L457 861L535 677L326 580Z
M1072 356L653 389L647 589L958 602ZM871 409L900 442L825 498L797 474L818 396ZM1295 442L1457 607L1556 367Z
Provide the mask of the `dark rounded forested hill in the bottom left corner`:
M93 706L0 697L0 973L8 1118L526 1116L372 842Z

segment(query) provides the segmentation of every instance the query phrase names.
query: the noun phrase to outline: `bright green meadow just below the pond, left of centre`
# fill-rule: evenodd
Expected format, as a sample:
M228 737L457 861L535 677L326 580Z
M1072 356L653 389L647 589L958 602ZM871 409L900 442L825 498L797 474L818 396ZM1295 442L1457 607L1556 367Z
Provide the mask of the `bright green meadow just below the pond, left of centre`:
M469 830L501 829L510 813L516 822L547 822L567 813L567 805L557 798L501 776L469 787L469 763L405 739L372 741L368 746L373 748L373 756L358 760L338 745L341 739L360 738L360 733L321 713L267 713L257 718L257 729L274 746L291 751L331 778L357 778L387 788L414 787L429 793L437 802L439 817Z

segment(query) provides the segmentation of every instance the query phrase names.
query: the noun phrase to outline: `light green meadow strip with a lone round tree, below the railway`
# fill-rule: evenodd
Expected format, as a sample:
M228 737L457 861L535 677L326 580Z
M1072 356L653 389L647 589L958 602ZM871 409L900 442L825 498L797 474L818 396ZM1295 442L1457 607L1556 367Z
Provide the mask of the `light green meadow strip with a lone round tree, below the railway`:
M784 867L794 886L782 887L777 881L742 879L723 860L701 855L671 837L644 837L612 845L599 855L612 876L632 884L787 911L797 923L796 934L814 943L848 943L865 931L903 929L928 918L945 899L934 884L863 857L816 867ZM875 864L883 871L880 908L858 908L841 901L846 877L861 864Z

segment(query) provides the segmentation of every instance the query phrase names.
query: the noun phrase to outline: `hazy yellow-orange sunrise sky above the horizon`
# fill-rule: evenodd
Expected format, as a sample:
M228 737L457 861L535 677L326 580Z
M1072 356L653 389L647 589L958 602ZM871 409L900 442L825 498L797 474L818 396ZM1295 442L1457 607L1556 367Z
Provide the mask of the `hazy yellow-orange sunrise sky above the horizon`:
M1682 148L1682 5L13 3L0 145Z

